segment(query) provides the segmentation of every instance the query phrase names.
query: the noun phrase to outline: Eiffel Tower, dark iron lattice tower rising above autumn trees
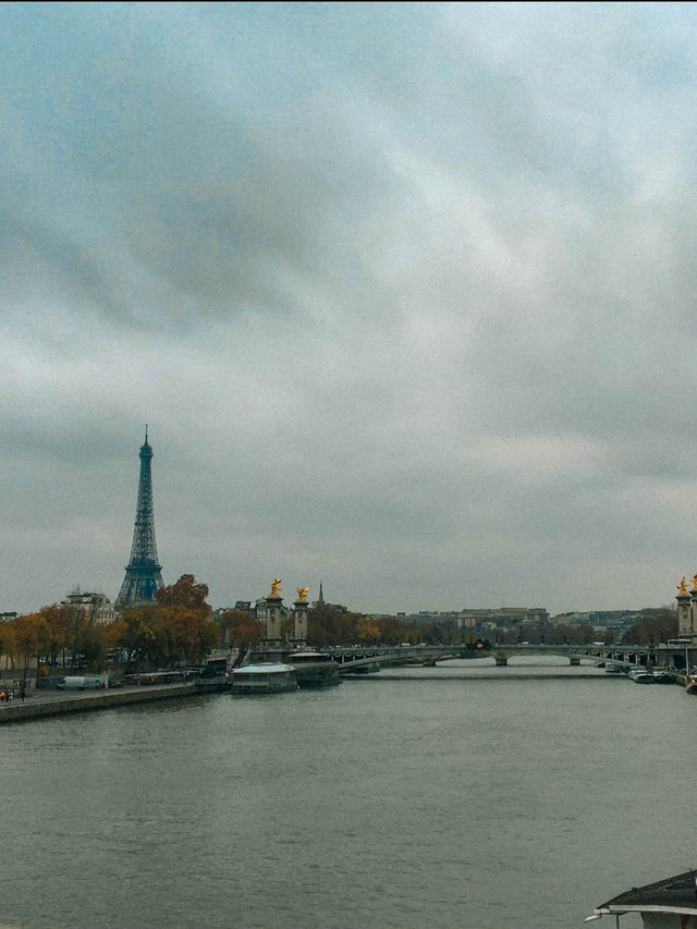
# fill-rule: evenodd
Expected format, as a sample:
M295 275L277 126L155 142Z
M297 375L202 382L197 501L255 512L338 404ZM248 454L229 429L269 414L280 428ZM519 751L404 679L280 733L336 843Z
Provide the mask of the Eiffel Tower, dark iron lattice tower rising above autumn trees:
M150 463L152 449L148 444L148 427L145 427L145 443L140 445L140 480L138 502L135 509L135 526L131 561L126 564L126 576L114 602L115 610L125 610L136 603L155 600L155 591L162 587L161 567L155 546L155 521L152 519L152 476Z

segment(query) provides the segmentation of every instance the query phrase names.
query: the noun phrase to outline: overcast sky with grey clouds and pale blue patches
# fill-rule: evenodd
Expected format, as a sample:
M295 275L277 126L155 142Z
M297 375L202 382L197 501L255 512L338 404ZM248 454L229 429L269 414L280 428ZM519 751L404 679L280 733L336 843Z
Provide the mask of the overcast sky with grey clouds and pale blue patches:
M0 610L661 606L697 5L3 3Z

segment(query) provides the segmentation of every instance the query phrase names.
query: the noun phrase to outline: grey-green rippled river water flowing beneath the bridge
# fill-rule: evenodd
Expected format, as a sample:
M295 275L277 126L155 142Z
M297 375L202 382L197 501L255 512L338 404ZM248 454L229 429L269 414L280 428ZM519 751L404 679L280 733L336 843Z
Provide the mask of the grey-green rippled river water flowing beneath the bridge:
M479 662L5 725L0 924L579 927L697 864L696 729L680 687Z

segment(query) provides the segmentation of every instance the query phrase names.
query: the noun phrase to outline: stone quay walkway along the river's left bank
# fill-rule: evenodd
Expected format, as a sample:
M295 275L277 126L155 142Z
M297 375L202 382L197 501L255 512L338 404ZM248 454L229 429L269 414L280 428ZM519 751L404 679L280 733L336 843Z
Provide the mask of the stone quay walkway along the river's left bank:
M170 700L200 694L193 681L179 684L139 684L131 687L112 687L105 690L30 690L23 701L15 697L9 704L0 702L0 724L59 716L61 713L105 710L129 704L150 700Z

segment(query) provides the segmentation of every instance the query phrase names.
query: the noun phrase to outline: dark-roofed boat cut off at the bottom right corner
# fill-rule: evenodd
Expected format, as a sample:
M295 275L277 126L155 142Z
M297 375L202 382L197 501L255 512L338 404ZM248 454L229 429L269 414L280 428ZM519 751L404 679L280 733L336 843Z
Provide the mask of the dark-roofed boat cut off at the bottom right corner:
M603 916L614 916L615 926L625 914L640 914L644 929L692 929L697 925L697 871L685 871L652 884L632 888L596 906L592 922ZM632 925L636 925L632 922Z

